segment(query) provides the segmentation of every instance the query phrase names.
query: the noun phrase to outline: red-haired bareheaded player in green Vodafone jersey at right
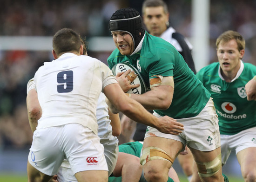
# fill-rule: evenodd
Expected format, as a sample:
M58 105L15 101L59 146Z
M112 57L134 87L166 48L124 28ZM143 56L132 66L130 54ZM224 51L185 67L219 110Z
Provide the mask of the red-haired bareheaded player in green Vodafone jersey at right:
M236 151L245 182L256 182L256 102L248 101L245 84L256 66L244 63L245 40L234 31L216 40L219 62L202 68L197 77L211 93L219 117L222 165Z

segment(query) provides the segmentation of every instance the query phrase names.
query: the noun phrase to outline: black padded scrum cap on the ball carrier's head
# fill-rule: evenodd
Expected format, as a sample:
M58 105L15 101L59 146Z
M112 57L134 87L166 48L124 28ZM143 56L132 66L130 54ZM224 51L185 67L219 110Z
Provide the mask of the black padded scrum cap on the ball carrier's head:
M133 38L134 49L145 34L139 12L130 7L119 9L113 13L109 21L109 30L128 32Z

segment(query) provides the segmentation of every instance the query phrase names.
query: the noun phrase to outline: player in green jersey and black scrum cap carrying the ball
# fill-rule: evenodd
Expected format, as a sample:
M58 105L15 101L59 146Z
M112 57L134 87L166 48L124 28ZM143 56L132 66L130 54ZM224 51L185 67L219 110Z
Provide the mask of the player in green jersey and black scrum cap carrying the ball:
M168 170L187 144L202 181L228 181L222 176L220 132L214 103L181 54L167 41L148 34L140 14L133 8L117 10L110 19L109 29L117 47L108 58L109 67L128 62L140 71L148 86L146 93L130 97L147 110L154 110L155 116L170 116L184 125L181 134L164 134L148 127L140 159L146 180L170 182ZM128 73L116 75L119 83L128 83L121 83L123 91L138 86L130 85L125 79Z

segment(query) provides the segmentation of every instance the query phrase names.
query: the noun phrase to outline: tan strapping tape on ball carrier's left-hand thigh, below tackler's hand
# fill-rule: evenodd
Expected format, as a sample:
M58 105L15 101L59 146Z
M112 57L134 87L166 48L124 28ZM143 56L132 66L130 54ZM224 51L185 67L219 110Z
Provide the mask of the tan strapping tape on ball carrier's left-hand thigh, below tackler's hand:
M142 155L140 158L140 163L143 166L148 161L153 161L155 159L165 160L173 163L173 159L162 149L157 147L147 147L142 150Z

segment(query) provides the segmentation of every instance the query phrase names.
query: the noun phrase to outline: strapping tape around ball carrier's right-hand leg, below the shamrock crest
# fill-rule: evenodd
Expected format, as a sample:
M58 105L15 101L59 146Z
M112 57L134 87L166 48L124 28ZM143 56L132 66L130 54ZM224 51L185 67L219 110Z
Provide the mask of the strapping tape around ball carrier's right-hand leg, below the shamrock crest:
M198 169L198 175L201 177L210 177L215 175L222 167L221 154L214 160L205 163L196 163Z

